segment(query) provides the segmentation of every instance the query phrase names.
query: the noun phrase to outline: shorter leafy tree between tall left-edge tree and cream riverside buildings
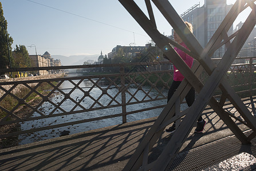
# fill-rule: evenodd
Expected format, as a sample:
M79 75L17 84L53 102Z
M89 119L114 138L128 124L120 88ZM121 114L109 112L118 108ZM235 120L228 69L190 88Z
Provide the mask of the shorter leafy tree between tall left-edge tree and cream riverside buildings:
M29 58L29 52L25 45L17 45L14 49L14 67L26 68L31 67L31 59Z

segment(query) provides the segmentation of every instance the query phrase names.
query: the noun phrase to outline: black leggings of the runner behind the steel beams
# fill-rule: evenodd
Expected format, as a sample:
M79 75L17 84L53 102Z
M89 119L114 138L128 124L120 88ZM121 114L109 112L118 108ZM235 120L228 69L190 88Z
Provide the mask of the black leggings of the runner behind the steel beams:
M168 91L168 96L167 96L167 103L168 101L171 99L172 95L174 95L174 92L176 91L176 89L179 87L181 82L178 81L173 81L172 85ZM187 93L186 97L186 102L188 107L191 107L191 105L194 103L195 101L195 89L193 87L191 87L190 91ZM199 117L198 121L201 121L203 118L202 116Z

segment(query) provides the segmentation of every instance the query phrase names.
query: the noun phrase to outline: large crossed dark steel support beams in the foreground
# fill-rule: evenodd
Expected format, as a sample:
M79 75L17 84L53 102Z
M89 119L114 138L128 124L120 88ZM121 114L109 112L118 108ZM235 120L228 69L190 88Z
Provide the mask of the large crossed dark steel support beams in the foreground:
M247 109L245 104L243 104L237 93L235 93L234 89L231 88L231 86L226 82L224 75L226 74L230 65L233 63L235 57L238 55L238 52L241 50L243 44L255 26L256 11L254 10L254 1L238 0L229 11L219 28L216 30L215 34L212 36L206 47L203 48L200 46L194 35L192 35L190 30L188 30L187 26L171 6L170 2L167 0L152 0L152 2L155 3L157 9L159 9L159 11L167 19L170 25L178 33L180 38L182 38L183 42L187 45L190 51L187 51L182 47L179 48L198 61L191 69L187 66L186 63L184 63L182 58L180 58L180 56L171 46L171 44L175 46L178 45L172 40L166 38L166 36L160 34L160 32L157 30L151 3L149 0L145 0L149 19L146 17L143 11L140 10L134 1L119 1L132 15L132 17L135 18L137 23L139 23L139 25L147 32L147 34L151 36L152 40L157 44L159 48L162 49L167 58L170 59L172 63L174 63L174 65L185 77L182 84L180 84L180 87L174 93L171 100L168 102L160 116L152 125L147 135L137 147L135 153L128 161L124 170L167 170L168 166L171 164L171 161L179 152L179 149L186 140L188 134L191 132L194 123L196 120L198 120L199 116L202 115L202 112L207 104L211 105L220 119L225 122L227 127L231 129L231 131L235 136L237 136L242 144L250 143L250 140L255 137L256 120L253 115L251 115L251 112ZM227 35L227 30L230 29L238 14L249 6L253 10L251 11L249 17L246 19L246 22L242 28L236 32L235 35L229 37ZM188 34L184 34L184 32ZM234 40L231 42L230 40L233 38ZM211 56L213 52L223 44L226 44L227 50L222 56L219 64L215 65L211 61ZM203 70L205 70L209 75L209 78L205 84L200 82L198 79L198 76ZM166 148L160 154L159 158L157 158L156 161L148 163L147 158L149 152L152 149L152 146L155 145L156 141L162 135L164 128L168 124L174 122L173 116L175 113L175 106L177 106L175 103L179 103L180 99L183 99L184 96L186 96L191 86L194 87L199 93L198 97L196 97L196 100L190 108L188 108L183 113L180 113L179 117L184 116L184 118L166 145ZM220 103L216 101L214 97L212 97L213 93L218 87L222 90L224 97ZM231 119L229 113L223 109L223 101L225 101L226 97L239 111L240 115L245 120L246 125L253 130L253 133L251 133L251 135L248 137L243 134L241 129L238 128L237 124L235 124L235 122Z

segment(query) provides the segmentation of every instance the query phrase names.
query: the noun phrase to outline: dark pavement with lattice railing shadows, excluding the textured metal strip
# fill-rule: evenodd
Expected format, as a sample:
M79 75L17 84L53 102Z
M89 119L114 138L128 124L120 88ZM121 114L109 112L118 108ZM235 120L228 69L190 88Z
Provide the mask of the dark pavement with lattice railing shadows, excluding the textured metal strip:
M203 133L192 132L180 153L232 135L211 109L204 112ZM57 139L2 149L1 170L122 170L156 118L77 133ZM244 128L246 129L246 128ZM155 161L171 138L163 132L148 160ZM179 158L182 162L182 158ZM179 164L179 162L176 164Z

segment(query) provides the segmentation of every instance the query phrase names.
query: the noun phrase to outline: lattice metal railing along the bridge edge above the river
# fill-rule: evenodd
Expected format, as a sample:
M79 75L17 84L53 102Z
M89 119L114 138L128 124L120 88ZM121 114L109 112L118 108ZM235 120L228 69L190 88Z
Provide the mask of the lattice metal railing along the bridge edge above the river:
M230 72L227 73L227 78L232 78L235 80L233 87L236 88L237 92L241 94L242 97L252 97L256 92L256 81L253 75L255 74L255 67L253 63L253 57L238 58L238 59L249 59L250 63L248 64L233 64L230 68ZM218 60L218 59L214 59ZM72 69L72 68L105 68L105 67L119 67L119 73L108 74L104 73L101 75L81 75L73 77L64 77L64 78L50 78L50 79L34 79L34 80L9 80L9 82L0 82L0 91L3 92L0 95L0 110L2 113L6 113L5 116L0 117L0 127L7 124L19 124L22 122L48 119L54 117L63 117L68 115L78 115L79 113L93 112L93 111L102 111L108 109L110 115L102 115L91 118L85 118L82 120L72 120L64 121L64 123L58 123L46 127L31 128L27 130L11 132L11 133L1 133L0 138L10 137L14 135L21 135L24 133L32 133L36 131L42 131L45 129L53 129L64 127L73 124L87 123L90 121L110 119L113 117L122 117L122 122L127 122L127 116L138 113L143 115L143 112L153 111L161 109L166 105L167 91L172 81L173 72L171 68L161 68L160 66L170 66L170 62L143 62L143 63L123 63L123 64L97 64L97 65L88 65L88 66L61 66L61 67L43 67L40 70L58 70L58 69ZM140 70L132 70L129 67L139 67ZM157 67L158 68L157 68ZM243 68L244 70L235 70L234 67L242 68L243 66L249 66ZM129 68L125 70L125 68ZM239 68L239 69L240 69ZM163 70L162 70L163 69ZM38 68L13 68L7 69L5 71L15 71L15 70L38 70ZM83 73L80 73L83 74ZM248 77L250 79L245 79ZM151 78L153 77L153 78ZM201 80L207 80L207 74L202 74ZM239 77L239 78L238 78ZM33 77L31 77L33 78ZM237 79L238 78L238 79ZM108 82L105 86L100 86L102 80ZM234 81L233 80L233 81ZM247 81L245 81L247 80ZM80 83L89 82L91 86L81 87ZM55 84L54 84L55 82ZM64 82L73 84L72 88L69 88L69 92L65 92L67 89L62 89L61 85ZM52 89L49 90L48 94L38 91L38 87L42 84L49 84ZM161 83L159 86L158 84ZM20 97L15 93L16 89L19 86L25 87L29 90L27 95ZM99 96L90 95L92 91L97 89L101 93ZM110 92L116 89L116 94L112 95ZM77 100L72 94L75 91L80 91L83 95L80 100ZM56 96L56 92L62 95L61 101L54 103L51 100L52 96ZM32 105L27 101L30 95L35 93L36 98L41 101ZM143 96L140 98L137 94L141 93ZM61 96L59 96L61 97ZM216 98L220 97L220 94L217 92L215 95ZM7 98L12 98L16 101L12 108L6 108L3 103ZM89 99L91 104L88 107L84 107L85 103L82 100ZM108 99L108 100L106 100ZM74 103L73 108L70 111L67 111L64 105L64 101L69 101ZM104 101L104 103L103 103ZM107 101L107 102L106 102ZM41 112L41 107L43 104L48 103L53 105L52 111L49 113ZM147 107L145 106L147 105ZM19 116L18 109L21 107L27 108L26 116ZM76 108L78 108L76 110ZM117 109L118 108L118 109ZM60 112L56 112L60 111ZM114 111L114 112L112 112ZM36 114L33 114L36 113ZM149 112L152 113L152 112ZM36 115L36 116L34 116ZM144 114L145 115L145 114Z

